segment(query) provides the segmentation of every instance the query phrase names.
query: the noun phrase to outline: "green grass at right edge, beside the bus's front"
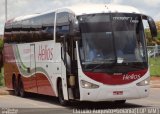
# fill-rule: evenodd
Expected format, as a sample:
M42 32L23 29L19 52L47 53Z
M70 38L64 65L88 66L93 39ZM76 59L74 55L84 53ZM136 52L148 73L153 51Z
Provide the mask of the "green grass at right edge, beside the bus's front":
M160 57L149 58L151 76L160 77Z

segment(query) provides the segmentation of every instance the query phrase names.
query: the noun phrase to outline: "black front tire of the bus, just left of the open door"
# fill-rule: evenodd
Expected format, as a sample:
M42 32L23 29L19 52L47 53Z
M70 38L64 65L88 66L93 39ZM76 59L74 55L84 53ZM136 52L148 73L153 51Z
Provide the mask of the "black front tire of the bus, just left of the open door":
M62 81L58 82L58 100L61 105L63 106L67 105L67 101L64 100L64 96L63 96Z

